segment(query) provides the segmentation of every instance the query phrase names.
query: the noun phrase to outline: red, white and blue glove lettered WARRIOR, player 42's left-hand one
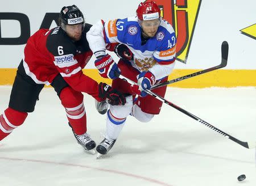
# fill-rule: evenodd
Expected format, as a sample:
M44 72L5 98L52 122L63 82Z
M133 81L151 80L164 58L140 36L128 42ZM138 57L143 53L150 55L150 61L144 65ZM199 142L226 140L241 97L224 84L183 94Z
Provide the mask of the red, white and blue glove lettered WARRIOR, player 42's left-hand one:
M121 74L120 69L109 54L97 59L94 65L98 69L101 77L115 79Z

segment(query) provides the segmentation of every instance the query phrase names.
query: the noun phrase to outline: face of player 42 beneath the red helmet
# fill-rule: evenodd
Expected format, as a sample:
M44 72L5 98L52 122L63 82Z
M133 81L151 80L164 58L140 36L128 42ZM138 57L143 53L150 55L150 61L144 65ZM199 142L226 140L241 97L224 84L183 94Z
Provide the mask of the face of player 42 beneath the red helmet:
M160 25L160 19L143 20L141 22L143 33L147 37L154 37L156 32L158 31L159 25Z

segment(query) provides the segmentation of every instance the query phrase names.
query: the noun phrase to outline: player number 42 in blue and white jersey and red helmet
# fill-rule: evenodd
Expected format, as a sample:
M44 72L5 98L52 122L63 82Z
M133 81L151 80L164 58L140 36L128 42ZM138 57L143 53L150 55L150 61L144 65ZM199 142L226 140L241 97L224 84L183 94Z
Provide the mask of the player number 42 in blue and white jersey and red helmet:
M140 3L136 12L137 16L131 18L100 20L86 33L100 75L113 79L113 88L130 95L126 97L125 105L110 105L106 136L96 148L98 157L113 147L127 116L148 122L159 114L162 102L147 96L143 90L167 81L175 65L175 31L160 16L158 5L155 2ZM118 64L106 53L106 46L110 44L121 58ZM118 78L119 74L137 82L138 86ZM152 91L164 96L166 86ZM137 100L134 99L136 95L139 95Z

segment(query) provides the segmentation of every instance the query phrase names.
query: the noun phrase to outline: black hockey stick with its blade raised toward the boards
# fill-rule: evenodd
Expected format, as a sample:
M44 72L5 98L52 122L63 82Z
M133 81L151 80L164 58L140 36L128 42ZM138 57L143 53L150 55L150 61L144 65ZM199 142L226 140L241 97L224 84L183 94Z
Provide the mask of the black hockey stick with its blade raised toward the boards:
M228 62L228 53L229 53L229 44L228 44L228 42L223 41L222 44L221 44L221 64L220 65L210 67L209 69L197 71L196 73L184 75L183 77L172 79L172 80L167 81L167 82L156 84L155 86L152 86L151 90L155 89L155 88L162 87L162 86L166 86L167 84L176 83L176 82L182 81L184 79L192 78L192 77L195 77L197 75L208 73L209 71L221 69L222 67L225 67L227 62Z

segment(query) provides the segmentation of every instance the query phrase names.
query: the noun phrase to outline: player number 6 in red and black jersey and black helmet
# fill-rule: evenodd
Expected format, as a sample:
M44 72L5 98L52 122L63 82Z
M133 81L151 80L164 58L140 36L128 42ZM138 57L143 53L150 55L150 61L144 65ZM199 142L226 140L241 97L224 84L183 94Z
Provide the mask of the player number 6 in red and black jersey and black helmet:
M51 84L67 112L77 142L86 151L93 151L96 143L87 133L81 92L97 100L100 113L107 110L106 99L111 105L123 105L126 99L108 84L98 84L82 73L93 54L86 40L91 26L85 23L77 6L65 6L60 11L60 27L39 29L28 39L9 107L0 115L0 141L23 124L28 112L34 111L44 84Z

